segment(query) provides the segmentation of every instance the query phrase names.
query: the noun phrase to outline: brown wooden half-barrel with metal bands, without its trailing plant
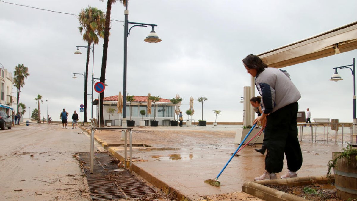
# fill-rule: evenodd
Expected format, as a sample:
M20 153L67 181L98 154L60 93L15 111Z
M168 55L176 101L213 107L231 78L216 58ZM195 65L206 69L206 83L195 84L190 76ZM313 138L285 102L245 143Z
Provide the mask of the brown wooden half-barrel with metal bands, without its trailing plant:
M333 152L332 158L340 156L341 152ZM351 155L351 163L346 158L337 160L335 172L335 185L337 196L343 200L357 198L357 160L356 155Z

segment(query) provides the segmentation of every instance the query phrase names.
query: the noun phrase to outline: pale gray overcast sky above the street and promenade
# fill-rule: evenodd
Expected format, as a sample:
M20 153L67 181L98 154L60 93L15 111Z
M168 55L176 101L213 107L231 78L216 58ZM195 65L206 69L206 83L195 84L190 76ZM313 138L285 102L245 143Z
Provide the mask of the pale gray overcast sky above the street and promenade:
M106 11L99 0L5 0L64 13L79 14L82 8ZM218 122L242 122L243 87L250 86L241 60L312 35L352 23L356 19L356 0L131 0L129 21L157 24L160 43L144 42L150 27L135 27L128 37L127 92L151 93L161 98L183 98L181 110L195 98L193 119L201 119L201 103L207 97L203 119L214 121L214 109L222 115ZM112 6L111 19L124 21L125 7ZM20 102L36 108L34 98L41 94L41 116L59 120L62 108L72 114L83 103L84 54L76 55L75 46L86 46L76 16L7 4L0 1L0 63L13 72L17 64L29 68L20 93ZM111 22L104 96L123 90L123 22ZM100 40L94 50L94 77L100 77L102 61ZM299 111L310 108L311 118L340 119L352 122L353 77L348 69L338 72L344 80L331 82L333 67L352 64L356 50L331 57L292 65L283 69L301 92ZM92 69L90 55L90 72ZM91 89L89 76L88 93ZM13 89L16 90L15 88ZM258 93L256 93L257 95ZM98 94L94 92L94 98ZM90 118L90 96L88 96ZM28 109L27 109L28 111ZM95 112L94 112L95 113ZM29 112L25 113L29 117Z

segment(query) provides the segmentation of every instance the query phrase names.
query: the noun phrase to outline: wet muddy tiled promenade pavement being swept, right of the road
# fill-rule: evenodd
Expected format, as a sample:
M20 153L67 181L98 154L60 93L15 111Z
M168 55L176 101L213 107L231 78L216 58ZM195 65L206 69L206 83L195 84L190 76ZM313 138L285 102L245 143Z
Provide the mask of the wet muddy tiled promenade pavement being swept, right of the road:
M133 170L151 184L161 189L174 190L178 197L190 200L240 192L244 182L253 181L254 177L264 172L265 155L254 151L261 144L246 146L238 152L240 156L233 157L218 178L220 187L204 182L218 175L230 159L230 153L238 147L239 144L233 143L237 128L241 126L134 127L132 143L140 146L133 147ZM316 131L317 142L315 128L311 142L311 129L303 129L303 140L300 142L303 165L297 172L299 177L326 175L331 153L341 151L347 145L341 141L341 128L337 142L335 131L329 134L328 142L324 141L323 127L317 127ZM119 145L124 144L120 140L121 132L96 131L95 137L115 156L124 157L124 147ZM350 142L349 128L344 128L344 141ZM286 171L284 160L283 170L277 177L280 178Z

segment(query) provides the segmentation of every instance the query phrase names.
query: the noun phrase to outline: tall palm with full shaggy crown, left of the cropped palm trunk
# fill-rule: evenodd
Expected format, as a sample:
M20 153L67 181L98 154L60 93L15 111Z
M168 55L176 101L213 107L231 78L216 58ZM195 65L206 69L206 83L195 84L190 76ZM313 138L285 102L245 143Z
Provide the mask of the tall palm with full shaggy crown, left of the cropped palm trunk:
M79 32L83 33L83 40L87 41L88 47L91 44L98 44L99 37L104 37L104 25L105 25L105 14L103 11L92 8L88 6L86 9L82 9L79 13ZM99 37L98 37L99 36ZM94 50L93 50L94 51ZM84 78L84 121L87 122L87 83L88 83L88 66L89 66L89 54L90 48L87 48L87 62L86 62L86 73ZM92 101L92 100L91 100Z

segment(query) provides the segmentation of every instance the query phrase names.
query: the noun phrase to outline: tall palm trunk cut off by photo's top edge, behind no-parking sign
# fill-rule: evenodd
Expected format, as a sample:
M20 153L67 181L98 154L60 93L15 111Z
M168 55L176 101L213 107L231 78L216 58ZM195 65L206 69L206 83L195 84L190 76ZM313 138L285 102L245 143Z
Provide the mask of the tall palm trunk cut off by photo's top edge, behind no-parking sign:
M100 0L100 1L103 1L103 0ZM109 31L110 31L111 5L115 4L117 1L120 1L120 3L122 3L124 5L126 4L126 0L107 0L107 11L106 11L106 14L105 14L102 68L100 70L100 82L102 82L102 83L105 83L105 68L107 66L107 53L108 53ZM99 102L100 125L104 125L104 120L103 120L103 98L104 98L104 92L100 93L100 102Z

